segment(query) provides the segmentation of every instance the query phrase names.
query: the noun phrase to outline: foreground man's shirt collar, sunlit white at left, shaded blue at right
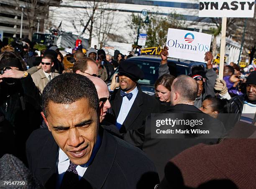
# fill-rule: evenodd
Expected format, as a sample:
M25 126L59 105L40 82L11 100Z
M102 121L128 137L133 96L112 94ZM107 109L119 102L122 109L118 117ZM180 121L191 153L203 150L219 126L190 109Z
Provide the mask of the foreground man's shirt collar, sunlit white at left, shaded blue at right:
M100 135L98 134L97 139L96 139L96 143L95 143L94 148L92 149L92 155L91 155L89 161L87 161L87 163L85 163L83 165L80 165L81 167L89 166L91 164L91 162L94 159L97 151L100 148L100 145L101 145L101 138L100 138ZM61 163L61 162L64 162L64 161L69 161L69 157L67 156L66 153L64 153L64 151L61 148L59 148L59 162Z

